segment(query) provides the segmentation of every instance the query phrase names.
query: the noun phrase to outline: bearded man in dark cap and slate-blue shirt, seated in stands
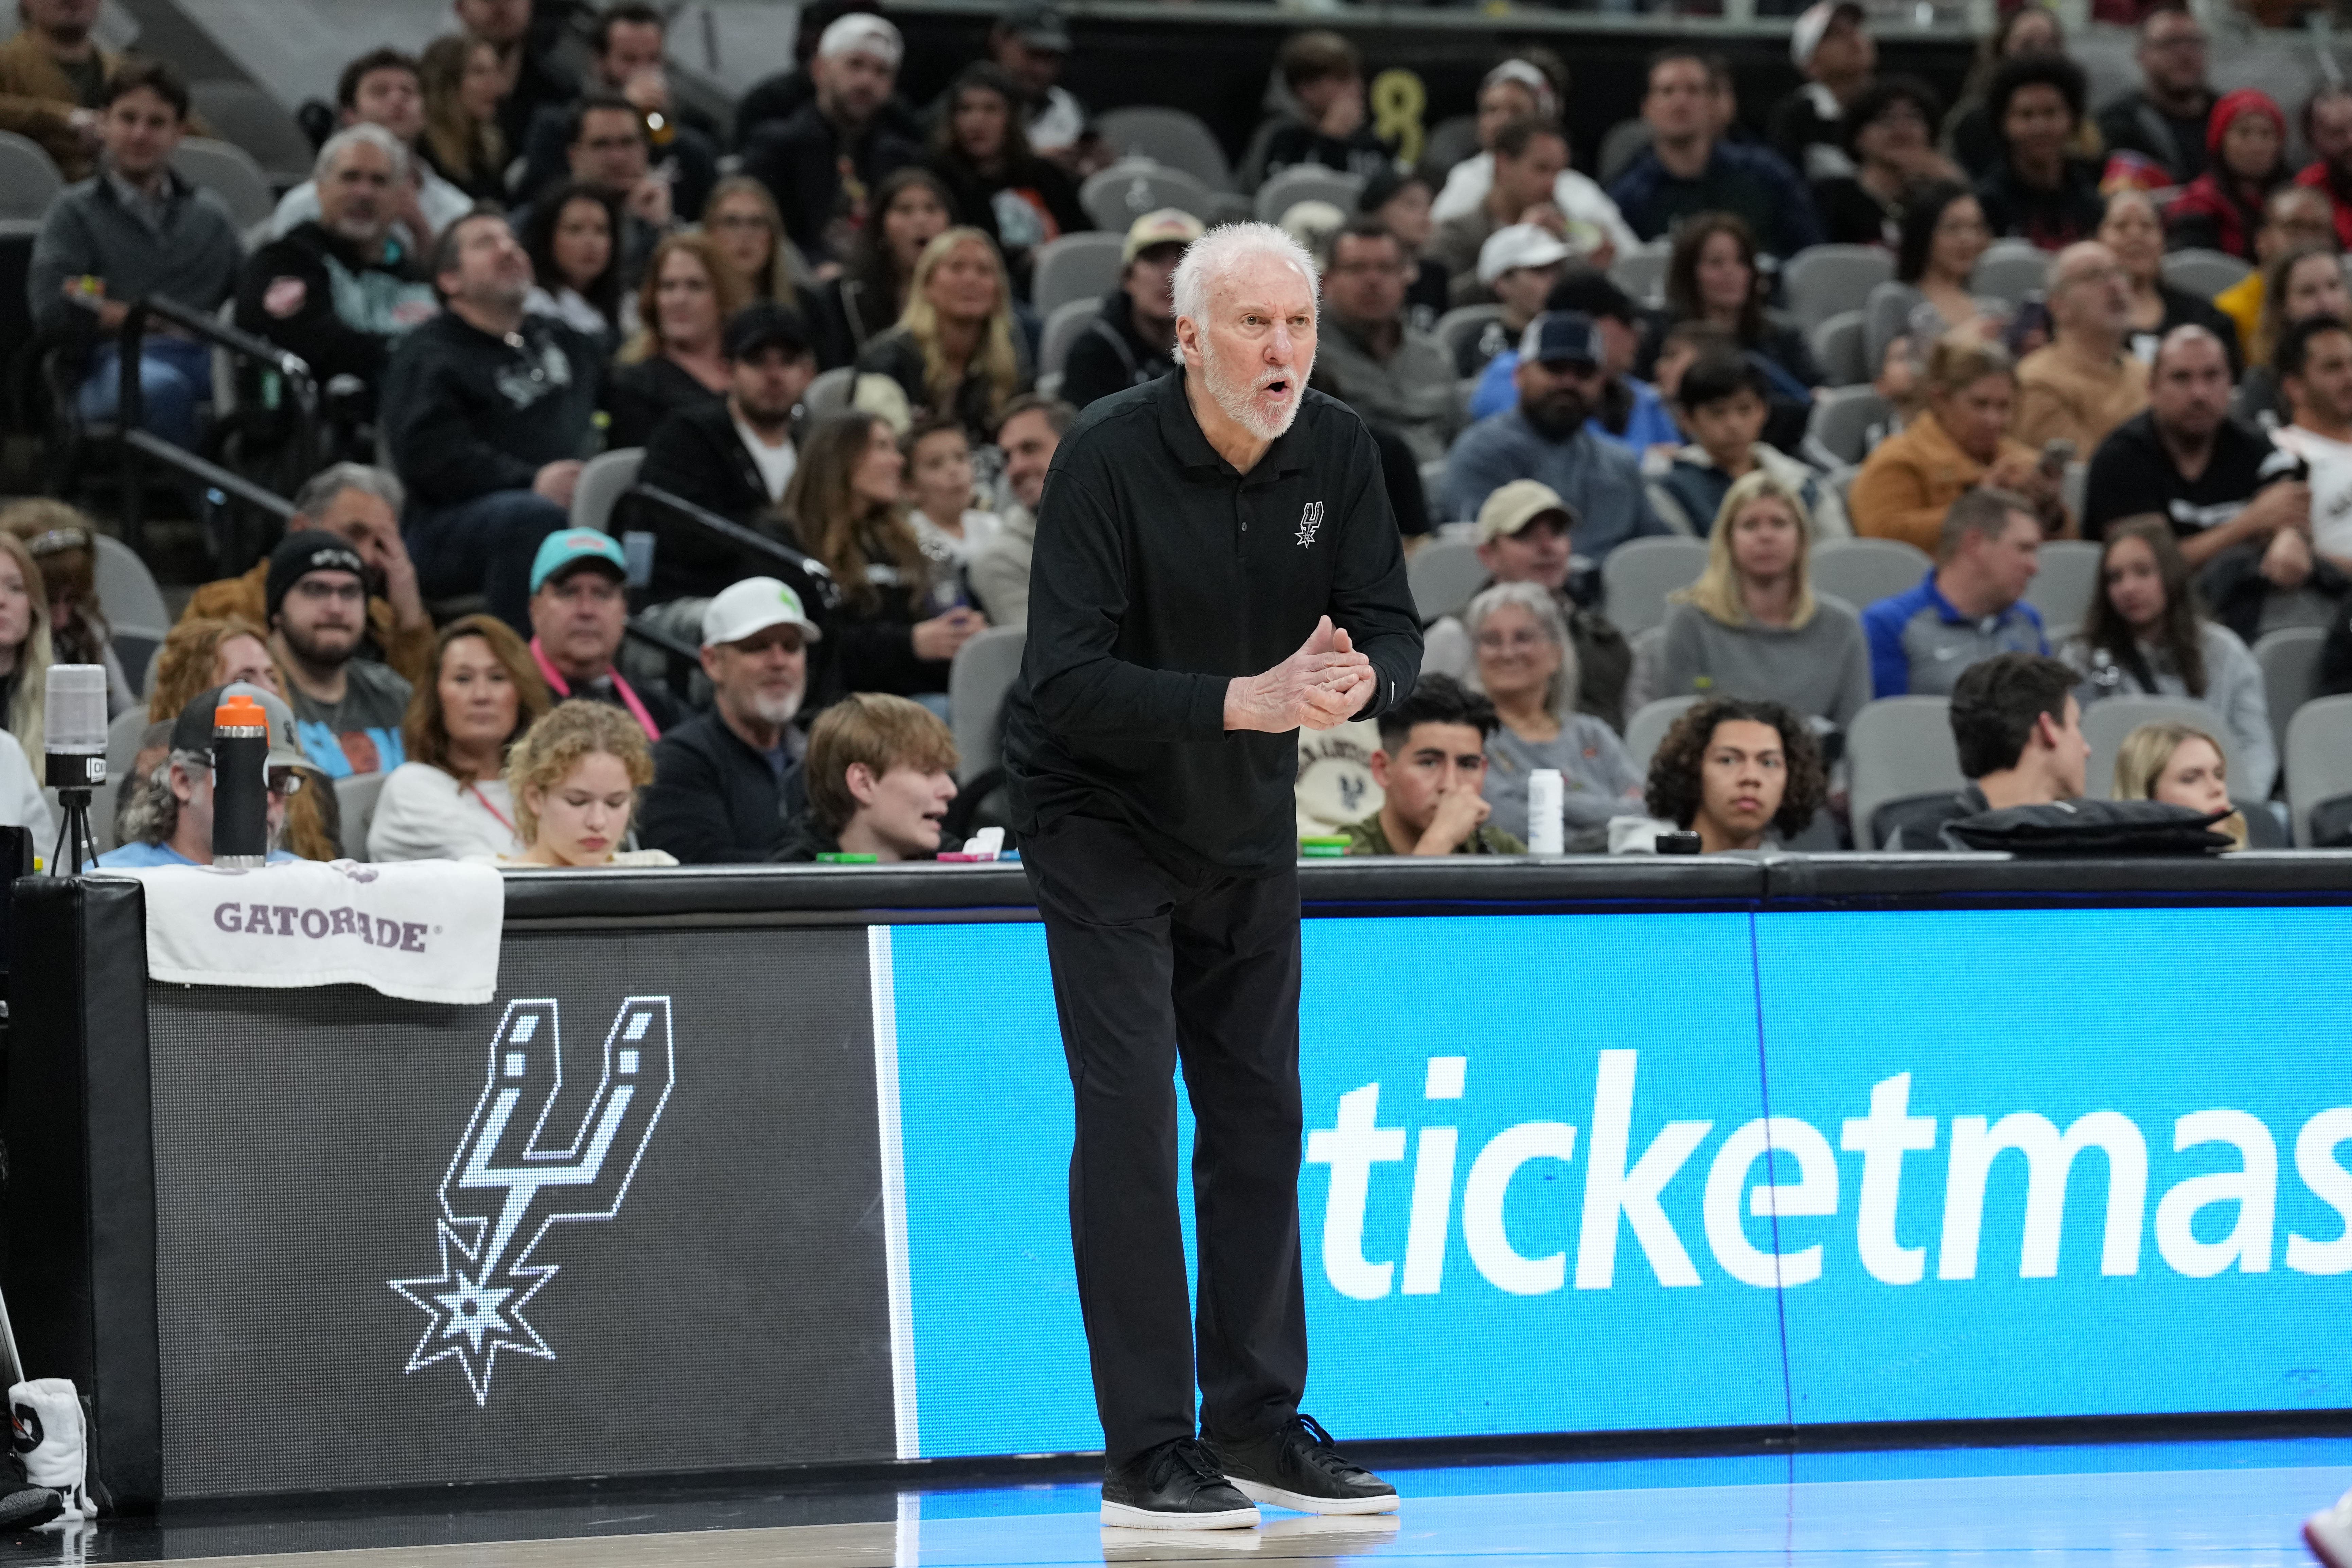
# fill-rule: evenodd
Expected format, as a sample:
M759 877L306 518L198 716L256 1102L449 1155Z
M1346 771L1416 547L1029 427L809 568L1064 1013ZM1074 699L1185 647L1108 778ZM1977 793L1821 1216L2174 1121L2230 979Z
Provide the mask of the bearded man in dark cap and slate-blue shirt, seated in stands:
M1446 458L1446 517L1477 517L1512 480L1541 480L1576 515L1595 562L1628 538L1670 534L1649 508L1639 461L1585 428L1609 381L1602 334L1583 310L1545 310L1519 339L1519 407L1470 425Z

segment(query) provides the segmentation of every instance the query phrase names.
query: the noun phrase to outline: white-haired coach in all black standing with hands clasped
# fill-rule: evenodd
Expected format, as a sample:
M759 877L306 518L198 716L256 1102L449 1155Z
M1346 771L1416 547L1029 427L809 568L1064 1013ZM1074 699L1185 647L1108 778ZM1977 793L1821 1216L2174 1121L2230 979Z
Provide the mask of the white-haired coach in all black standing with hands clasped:
M1037 512L1004 710L1021 858L1077 1098L1070 1241L1103 1420L1103 1523L1254 1526L1256 1502L1397 1507L1298 1413L1294 731L1421 668L1381 454L1308 390L1315 268L1235 223L1176 268L1181 369L1091 404ZM1195 1324L1176 1086L1197 1124Z

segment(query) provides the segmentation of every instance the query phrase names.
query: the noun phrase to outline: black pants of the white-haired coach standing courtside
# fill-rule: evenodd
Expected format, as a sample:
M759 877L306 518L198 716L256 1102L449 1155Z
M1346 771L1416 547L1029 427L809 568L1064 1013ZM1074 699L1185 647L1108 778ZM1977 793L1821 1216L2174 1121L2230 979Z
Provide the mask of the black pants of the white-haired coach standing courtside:
M1070 1241L1103 1458L1272 1432L1308 1378L1298 1272L1298 872L1171 865L1068 816L1021 844L1077 1095ZM1176 1058L1192 1095L1200 1312L1176 1208Z

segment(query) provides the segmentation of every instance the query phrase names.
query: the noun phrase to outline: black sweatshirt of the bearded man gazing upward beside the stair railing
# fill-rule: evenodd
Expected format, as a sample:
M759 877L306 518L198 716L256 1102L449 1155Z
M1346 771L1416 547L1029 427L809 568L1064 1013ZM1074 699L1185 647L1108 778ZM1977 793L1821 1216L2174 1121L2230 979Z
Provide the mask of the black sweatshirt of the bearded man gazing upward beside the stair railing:
M440 313L393 350L383 435L409 505L529 489L548 463L588 456L604 355L546 315L522 348Z

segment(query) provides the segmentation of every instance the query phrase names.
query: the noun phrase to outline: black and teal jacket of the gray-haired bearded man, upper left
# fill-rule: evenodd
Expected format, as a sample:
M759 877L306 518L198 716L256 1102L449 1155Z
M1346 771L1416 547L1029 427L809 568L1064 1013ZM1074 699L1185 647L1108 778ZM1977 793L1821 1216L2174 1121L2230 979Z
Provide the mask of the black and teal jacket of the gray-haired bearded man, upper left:
M238 327L301 355L320 388L358 376L369 402L393 353L393 329L416 327L437 310L433 287L397 247L383 261L362 261L320 223L270 240L238 277Z

